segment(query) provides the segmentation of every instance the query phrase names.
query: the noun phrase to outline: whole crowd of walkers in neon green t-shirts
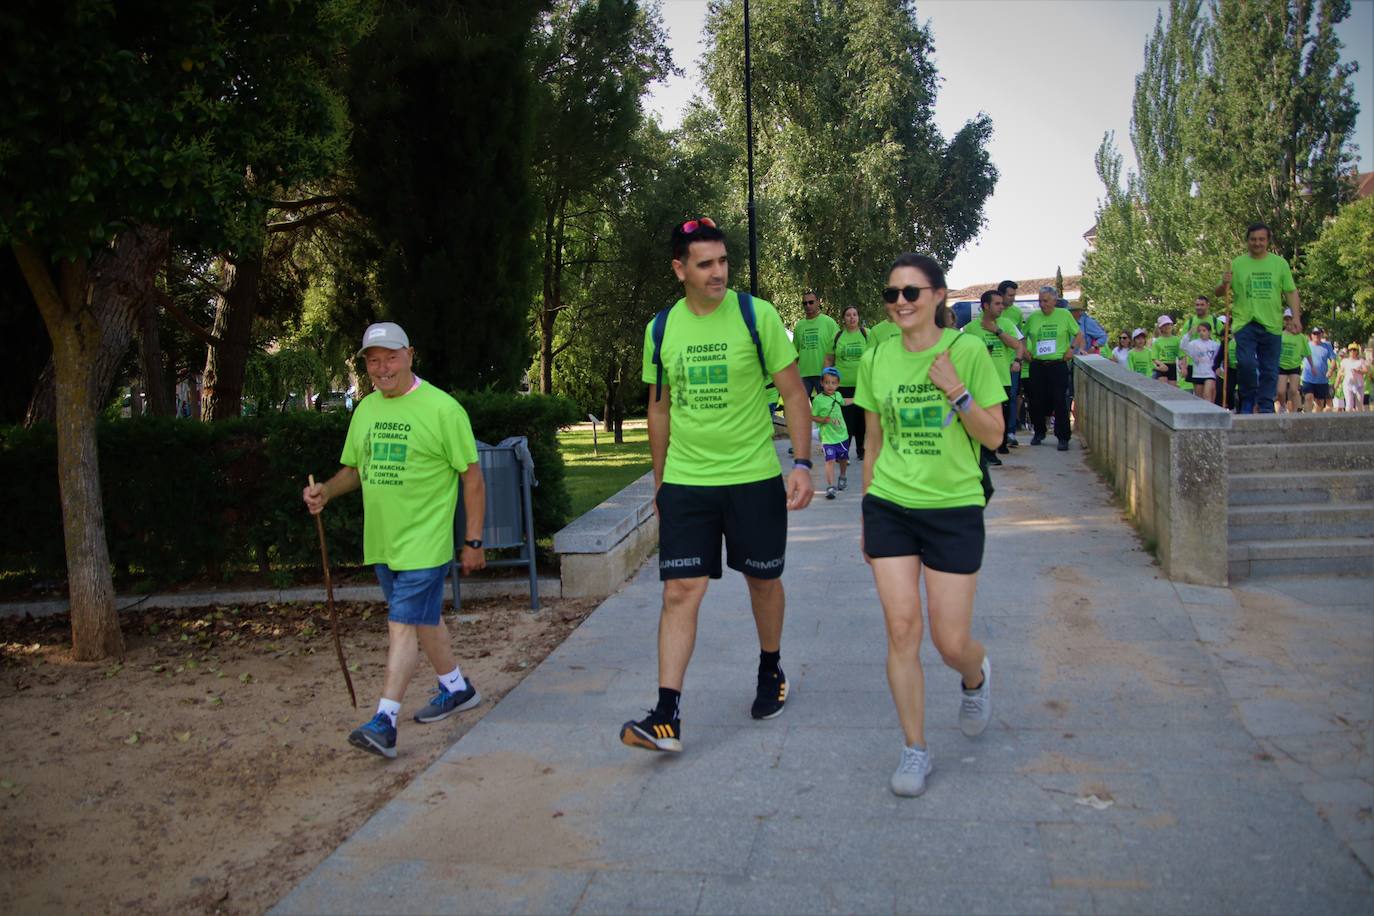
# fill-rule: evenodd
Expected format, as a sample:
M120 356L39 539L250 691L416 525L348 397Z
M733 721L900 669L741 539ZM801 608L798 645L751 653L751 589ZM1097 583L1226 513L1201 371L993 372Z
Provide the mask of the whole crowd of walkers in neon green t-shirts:
M1320 328L1304 335L1292 275L1268 253L1268 229L1252 227L1248 239L1249 253L1215 293L1234 290L1234 334L1200 295L1183 321L1161 314L1153 332L1121 332L1113 347L1102 327L1054 287L1037 290L1037 308L1022 313L1011 280L984 293L974 320L956 328L941 265L914 253L897 257L883 277L886 319L864 327L851 304L837 321L812 291L789 338L771 302L730 288L725 235L713 221L673 227L671 266L683 297L646 325L642 367L662 582L657 645L643 648L657 651L658 694L647 715L620 726L620 740L683 750L683 685L698 615L724 567L742 574L758 633L749 714L771 720L785 710L787 514L812 501L815 435L827 500L841 499L849 471L860 467L857 547L872 570L888 634L874 652L885 654L901 729L889 784L897 795L922 794L933 769L925 622L941 661L959 677L951 711L958 700L959 728L976 737L992 715L988 651L971 636L992 493L988 468L1020 446L1022 415L1030 445L1047 442L1052 431L1058 450L1069 450L1076 354L1102 353L1198 397L1238 402L1242 412L1301 409L1304 398L1308 409L1367 402L1369 354L1352 345L1337 358ZM376 713L349 742L394 757L401 702L420 654L437 681L415 721L436 722L481 702L453 656L441 610L455 560L459 488L473 508L456 560L464 571L486 563L485 485L467 415L415 375L404 330L371 325L359 357L375 391L353 412L342 467L302 499L319 514L333 499L363 492L364 559L375 564L386 596L390 644ZM791 445L786 472L769 419L779 401Z

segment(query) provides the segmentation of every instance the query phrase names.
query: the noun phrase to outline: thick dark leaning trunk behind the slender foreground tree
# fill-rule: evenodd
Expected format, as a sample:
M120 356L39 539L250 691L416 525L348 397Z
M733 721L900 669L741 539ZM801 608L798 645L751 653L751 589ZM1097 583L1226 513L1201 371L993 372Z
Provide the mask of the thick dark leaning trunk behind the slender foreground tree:
M154 280L166 260L169 233L165 229L137 225L121 232L114 247L96 255L89 264L87 282L91 302L84 304L98 323L99 343L87 358L91 360L91 408L99 412L114 385L129 342L139 327L146 302L154 299ZM36 254L41 262L43 255ZM44 269L47 265L44 264ZM30 286L32 288L32 286ZM44 316L47 320L47 316ZM54 358L38 376L25 426L55 422L58 416L56 346Z

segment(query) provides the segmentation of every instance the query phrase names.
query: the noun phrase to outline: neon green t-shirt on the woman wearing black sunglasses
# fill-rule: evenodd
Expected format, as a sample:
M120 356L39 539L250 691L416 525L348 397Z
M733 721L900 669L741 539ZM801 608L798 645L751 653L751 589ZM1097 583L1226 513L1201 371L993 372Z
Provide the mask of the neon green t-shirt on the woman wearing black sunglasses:
M976 338L945 328L940 342L921 353L907 350L900 338L864 353L855 404L882 422L882 448L872 467L870 493L914 509L987 503L978 442L958 417L945 424L952 408L927 379L930 364L948 350L955 372L978 407L1006 401L988 349L976 343Z

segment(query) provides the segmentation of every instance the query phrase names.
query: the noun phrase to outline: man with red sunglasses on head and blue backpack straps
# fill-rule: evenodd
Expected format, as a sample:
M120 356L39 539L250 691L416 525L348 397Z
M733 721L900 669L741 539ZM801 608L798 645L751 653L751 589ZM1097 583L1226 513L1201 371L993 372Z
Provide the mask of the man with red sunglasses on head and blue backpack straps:
M769 302L727 287L725 235L710 220L672 232L683 298L644 328L649 445L657 488L658 705L620 739L682 750L682 689L706 585L725 563L745 575L758 630L758 681L750 714L774 718L787 700L783 674L783 556L787 511L811 503L811 404L797 352ZM764 385L782 394L791 437L786 481L772 444Z

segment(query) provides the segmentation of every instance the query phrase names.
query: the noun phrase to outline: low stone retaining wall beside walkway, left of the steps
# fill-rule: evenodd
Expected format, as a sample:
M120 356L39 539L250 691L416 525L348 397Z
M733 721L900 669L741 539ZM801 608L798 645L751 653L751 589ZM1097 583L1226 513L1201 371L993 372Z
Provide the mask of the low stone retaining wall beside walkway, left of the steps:
M1073 372L1076 431L1165 575L1226 585L1231 413L1099 356Z

